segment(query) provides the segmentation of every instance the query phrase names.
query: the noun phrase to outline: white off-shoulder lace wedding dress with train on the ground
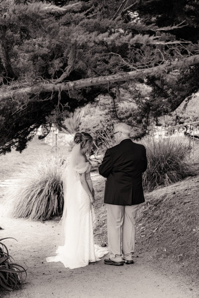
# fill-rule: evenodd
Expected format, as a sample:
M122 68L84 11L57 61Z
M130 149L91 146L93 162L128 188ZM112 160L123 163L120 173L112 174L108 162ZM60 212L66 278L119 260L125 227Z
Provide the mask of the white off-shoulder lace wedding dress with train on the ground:
M59 246L55 257L48 257L47 262L62 262L70 269L87 266L89 262L99 261L107 254L107 247L94 244L93 218L94 210L90 197L80 182L81 173L86 173L86 180L92 191L90 177L92 165L89 162L77 164L75 170L75 183L72 187L73 199L67 205L67 214L64 219L65 241Z

